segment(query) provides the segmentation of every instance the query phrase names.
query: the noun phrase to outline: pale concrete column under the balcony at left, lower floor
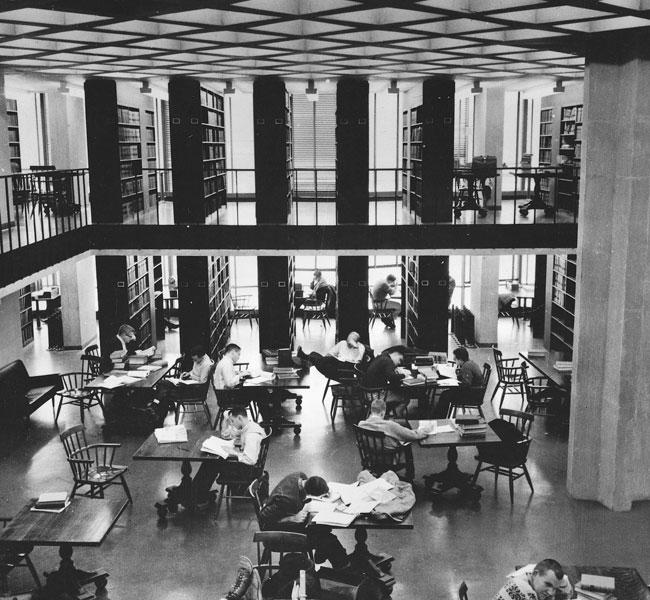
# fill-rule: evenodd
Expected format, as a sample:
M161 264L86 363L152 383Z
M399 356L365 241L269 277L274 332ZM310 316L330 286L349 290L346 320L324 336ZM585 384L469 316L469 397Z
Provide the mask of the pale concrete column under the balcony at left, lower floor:
M66 348L81 349L97 336L95 319L95 261L66 261L59 269L61 281L61 320Z

